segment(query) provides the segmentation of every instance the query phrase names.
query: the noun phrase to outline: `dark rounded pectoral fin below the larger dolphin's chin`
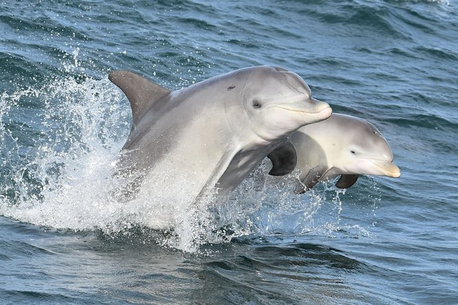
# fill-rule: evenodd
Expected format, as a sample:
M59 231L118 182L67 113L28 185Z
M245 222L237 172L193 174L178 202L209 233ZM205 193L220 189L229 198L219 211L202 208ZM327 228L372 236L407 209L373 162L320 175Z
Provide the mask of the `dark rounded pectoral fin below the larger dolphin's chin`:
M296 148L294 148L290 140L286 140L282 146L270 152L267 157L272 161L270 176L283 176L296 168Z

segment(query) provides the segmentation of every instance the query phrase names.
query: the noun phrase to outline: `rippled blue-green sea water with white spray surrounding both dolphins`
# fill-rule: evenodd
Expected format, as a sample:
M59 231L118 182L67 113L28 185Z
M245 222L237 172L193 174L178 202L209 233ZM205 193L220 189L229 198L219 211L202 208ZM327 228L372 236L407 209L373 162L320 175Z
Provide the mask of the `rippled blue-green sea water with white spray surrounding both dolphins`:
M1 302L457 304L457 34L453 0L2 2ZM401 177L252 178L177 237L106 202L130 124L107 72L177 89L259 64L375 124Z

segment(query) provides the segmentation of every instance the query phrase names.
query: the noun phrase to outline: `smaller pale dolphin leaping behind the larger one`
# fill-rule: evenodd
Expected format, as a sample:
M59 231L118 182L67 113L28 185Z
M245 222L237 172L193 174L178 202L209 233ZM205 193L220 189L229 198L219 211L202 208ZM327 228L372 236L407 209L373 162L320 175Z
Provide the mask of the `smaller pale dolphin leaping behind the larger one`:
M383 135L361 118L332 114L327 120L298 129L289 139L296 150L296 169L301 172L297 194L338 175L341 175L336 183L339 188L351 187L360 174L400 176ZM282 149L279 147L268 155L273 164L273 172L269 174L291 167L288 161L280 159L284 154Z

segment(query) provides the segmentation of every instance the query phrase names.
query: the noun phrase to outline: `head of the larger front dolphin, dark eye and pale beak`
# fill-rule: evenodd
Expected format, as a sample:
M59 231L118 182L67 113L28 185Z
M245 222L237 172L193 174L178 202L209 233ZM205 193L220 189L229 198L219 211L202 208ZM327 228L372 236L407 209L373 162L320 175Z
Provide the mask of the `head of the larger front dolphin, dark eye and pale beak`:
M331 107L312 98L301 77L279 67L255 68L240 94L251 129L268 141L331 116Z

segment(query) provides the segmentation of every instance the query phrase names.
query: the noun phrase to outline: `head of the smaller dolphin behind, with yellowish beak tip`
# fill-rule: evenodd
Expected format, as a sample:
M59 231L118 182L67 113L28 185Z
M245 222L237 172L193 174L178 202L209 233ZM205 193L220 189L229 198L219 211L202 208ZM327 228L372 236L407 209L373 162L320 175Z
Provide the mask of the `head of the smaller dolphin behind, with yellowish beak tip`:
M333 121L333 122L332 122ZM323 133L333 133L327 146L327 160L340 174L370 174L397 178L400 170L393 163L393 152L380 131L366 120L334 114L332 127Z

